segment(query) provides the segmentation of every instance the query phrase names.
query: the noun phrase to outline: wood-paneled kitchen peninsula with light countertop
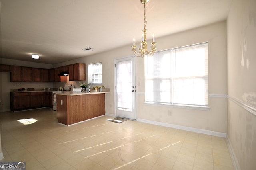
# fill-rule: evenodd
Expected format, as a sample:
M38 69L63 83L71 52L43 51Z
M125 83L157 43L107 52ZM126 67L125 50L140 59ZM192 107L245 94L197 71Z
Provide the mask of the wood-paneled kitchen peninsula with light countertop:
M105 93L110 91L56 94L58 122L72 125L104 115Z

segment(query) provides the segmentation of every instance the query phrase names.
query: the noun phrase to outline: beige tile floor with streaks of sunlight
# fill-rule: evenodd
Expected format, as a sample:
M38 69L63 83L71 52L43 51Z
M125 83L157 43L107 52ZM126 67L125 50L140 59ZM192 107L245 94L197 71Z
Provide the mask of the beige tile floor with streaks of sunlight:
M37 121L17 121L29 118ZM224 138L109 118L66 127L47 108L0 113L1 161L26 161L26 170L234 170Z

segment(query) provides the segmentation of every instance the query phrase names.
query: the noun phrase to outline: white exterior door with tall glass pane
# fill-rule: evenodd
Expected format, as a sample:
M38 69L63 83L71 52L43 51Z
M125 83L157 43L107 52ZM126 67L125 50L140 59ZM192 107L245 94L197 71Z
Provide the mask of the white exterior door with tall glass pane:
M135 57L116 59L116 116L136 119Z

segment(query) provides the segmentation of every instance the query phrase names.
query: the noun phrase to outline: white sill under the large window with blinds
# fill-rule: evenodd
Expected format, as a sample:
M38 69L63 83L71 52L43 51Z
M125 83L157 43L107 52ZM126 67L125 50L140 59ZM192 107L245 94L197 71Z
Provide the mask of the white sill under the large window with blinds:
M185 106L185 105L178 105L178 104L167 104L167 103L154 103L154 102L144 102L145 105L150 106L162 106L162 107L176 107L176 108L182 108L182 109L194 109L194 110L205 110L210 111L210 107L200 107L200 106Z

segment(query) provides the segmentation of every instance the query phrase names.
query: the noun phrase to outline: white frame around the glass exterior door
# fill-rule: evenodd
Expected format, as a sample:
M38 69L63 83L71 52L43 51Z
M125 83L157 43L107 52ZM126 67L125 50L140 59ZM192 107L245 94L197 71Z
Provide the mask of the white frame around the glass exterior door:
M116 61L119 59L125 59L125 58L130 58L133 57L134 58L134 84L135 84L135 92L134 92L134 114L135 114L135 119L132 120L137 120L137 57L134 55L129 55L126 57L117 57L114 58L114 99L115 99L115 116L116 114L116 110L117 110L117 104L116 104Z

